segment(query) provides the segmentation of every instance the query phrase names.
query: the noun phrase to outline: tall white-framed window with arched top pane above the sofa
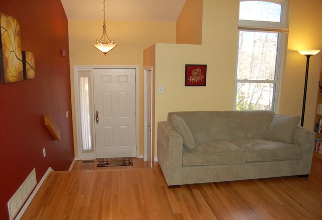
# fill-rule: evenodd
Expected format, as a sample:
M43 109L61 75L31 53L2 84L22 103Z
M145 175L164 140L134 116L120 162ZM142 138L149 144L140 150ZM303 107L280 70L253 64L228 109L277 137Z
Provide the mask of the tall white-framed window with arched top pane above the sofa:
M286 29L285 1L240 1L236 110L276 110Z

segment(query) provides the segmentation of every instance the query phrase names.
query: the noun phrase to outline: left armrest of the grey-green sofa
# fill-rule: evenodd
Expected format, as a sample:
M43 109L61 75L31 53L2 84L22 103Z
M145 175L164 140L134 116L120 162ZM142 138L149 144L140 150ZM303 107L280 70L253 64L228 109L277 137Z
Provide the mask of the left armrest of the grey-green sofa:
M157 123L157 160L168 186L181 185L183 140L169 122Z

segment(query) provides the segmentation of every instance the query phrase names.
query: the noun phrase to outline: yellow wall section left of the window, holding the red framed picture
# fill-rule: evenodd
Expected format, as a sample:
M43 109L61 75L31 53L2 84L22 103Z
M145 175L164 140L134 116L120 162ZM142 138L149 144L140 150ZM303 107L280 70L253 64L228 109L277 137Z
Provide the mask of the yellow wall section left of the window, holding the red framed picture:
M155 146L157 123L169 112L233 108L238 7L238 0L203 0L202 45L156 44ZM206 86L185 86L185 64L207 64Z

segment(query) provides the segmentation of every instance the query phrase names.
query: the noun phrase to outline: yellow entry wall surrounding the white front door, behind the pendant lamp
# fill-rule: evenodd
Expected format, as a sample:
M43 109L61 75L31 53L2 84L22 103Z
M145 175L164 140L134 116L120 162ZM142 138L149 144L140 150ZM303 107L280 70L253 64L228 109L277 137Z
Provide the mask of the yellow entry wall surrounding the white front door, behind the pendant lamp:
M107 22L107 34L115 40L117 46L106 56L93 44L100 39L103 31L102 21L69 20L69 56L72 117L74 130L75 157L76 126L75 126L75 102L74 102L74 65L138 65L139 66L139 148L143 155L143 49L155 42L174 43L176 23L160 22Z

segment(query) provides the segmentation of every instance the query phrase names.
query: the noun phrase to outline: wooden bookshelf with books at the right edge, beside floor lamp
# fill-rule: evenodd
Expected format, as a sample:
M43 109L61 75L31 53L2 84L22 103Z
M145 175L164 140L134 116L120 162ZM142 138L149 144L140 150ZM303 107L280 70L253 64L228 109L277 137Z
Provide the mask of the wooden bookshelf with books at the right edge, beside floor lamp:
M320 79L319 83L322 84L322 65L320 70ZM320 131L318 132L318 124L320 123ZM317 100L316 100L316 111L315 111L315 125L314 125L314 131L315 131L315 149L317 148L317 151L319 151L320 154L322 154L322 93L321 89L318 88L317 93Z

